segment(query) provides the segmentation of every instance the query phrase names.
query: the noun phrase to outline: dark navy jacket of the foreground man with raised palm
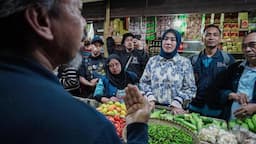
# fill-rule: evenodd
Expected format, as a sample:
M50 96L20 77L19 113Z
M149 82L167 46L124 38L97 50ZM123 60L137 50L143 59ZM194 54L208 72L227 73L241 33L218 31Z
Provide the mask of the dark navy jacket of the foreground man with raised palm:
M121 144L114 126L73 98L32 59L0 57L1 141L24 144ZM15 82L14 82L15 81ZM128 144L146 144L147 125L127 126Z

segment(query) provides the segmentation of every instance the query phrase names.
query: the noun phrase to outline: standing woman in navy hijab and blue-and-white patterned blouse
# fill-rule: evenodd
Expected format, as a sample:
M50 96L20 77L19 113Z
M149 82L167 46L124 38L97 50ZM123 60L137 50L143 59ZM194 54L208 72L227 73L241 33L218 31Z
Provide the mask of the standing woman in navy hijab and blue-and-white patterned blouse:
M152 106L169 106L174 114L186 113L184 107L196 93L192 65L178 54L180 43L178 31L166 30L160 54L149 59L140 79L140 88Z

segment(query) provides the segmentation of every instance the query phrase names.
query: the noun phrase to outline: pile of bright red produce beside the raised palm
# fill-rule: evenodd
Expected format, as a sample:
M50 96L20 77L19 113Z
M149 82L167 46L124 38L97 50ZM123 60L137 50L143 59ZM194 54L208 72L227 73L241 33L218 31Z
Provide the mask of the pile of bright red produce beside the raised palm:
M119 116L107 116L116 128L117 135L122 138L123 129L125 127L125 119Z

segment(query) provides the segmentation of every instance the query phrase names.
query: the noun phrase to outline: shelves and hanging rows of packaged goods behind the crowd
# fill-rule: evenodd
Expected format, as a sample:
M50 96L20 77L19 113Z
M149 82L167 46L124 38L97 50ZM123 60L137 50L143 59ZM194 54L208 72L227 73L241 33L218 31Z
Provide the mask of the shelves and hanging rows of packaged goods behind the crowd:
M129 23L124 27L124 23ZM242 39L256 29L256 17L250 12L234 13L206 13L206 14L176 14L164 16L141 16L125 19L116 18L112 21L113 38L120 43L122 34L129 32L140 34L142 45L149 45L150 56L159 54L162 34L169 28L174 28L182 34L183 41L201 41L203 29L206 25L215 24L222 31L221 47L223 51L234 54L235 58L242 59ZM184 56L200 51L181 47L179 52Z

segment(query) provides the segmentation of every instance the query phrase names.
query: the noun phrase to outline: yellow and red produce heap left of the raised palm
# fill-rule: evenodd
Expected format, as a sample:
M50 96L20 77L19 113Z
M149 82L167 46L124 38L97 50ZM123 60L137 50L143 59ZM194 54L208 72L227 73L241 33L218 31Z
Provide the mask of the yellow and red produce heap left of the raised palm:
M125 127L125 115L126 115L126 107L123 103L120 102L108 102L105 104L101 104L97 110L104 115L112 122L112 124L116 128L117 135L121 138L122 131Z

